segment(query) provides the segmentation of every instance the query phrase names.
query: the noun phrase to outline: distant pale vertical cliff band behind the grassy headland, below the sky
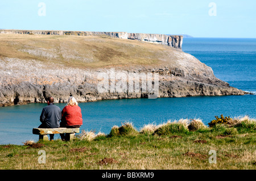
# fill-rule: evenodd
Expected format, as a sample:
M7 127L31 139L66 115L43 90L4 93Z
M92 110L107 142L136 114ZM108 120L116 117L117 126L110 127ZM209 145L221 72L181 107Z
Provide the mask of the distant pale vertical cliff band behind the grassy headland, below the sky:
M127 32L87 32L87 31L40 31L40 30L0 30L0 33L14 34L33 34L33 35L77 35L77 36L101 36L107 35L119 39L131 39L168 45L173 48L181 49L183 36L160 35L147 33L127 33Z

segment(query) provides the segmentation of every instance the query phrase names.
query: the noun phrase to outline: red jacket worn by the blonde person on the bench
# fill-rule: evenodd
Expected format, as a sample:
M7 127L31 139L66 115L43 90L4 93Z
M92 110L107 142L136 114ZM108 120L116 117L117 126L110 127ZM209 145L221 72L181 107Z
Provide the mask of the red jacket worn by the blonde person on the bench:
M79 106L65 106L61 111L61 121L66 125L82 125L82 111Z

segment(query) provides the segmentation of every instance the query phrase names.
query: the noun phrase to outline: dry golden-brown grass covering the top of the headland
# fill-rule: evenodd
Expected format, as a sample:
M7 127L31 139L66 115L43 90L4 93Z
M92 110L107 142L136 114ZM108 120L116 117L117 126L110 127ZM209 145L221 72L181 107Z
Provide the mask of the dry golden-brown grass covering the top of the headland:
M174 48L108 36L0 34L0 58L36 60L56 67L158 65L178 60Z

